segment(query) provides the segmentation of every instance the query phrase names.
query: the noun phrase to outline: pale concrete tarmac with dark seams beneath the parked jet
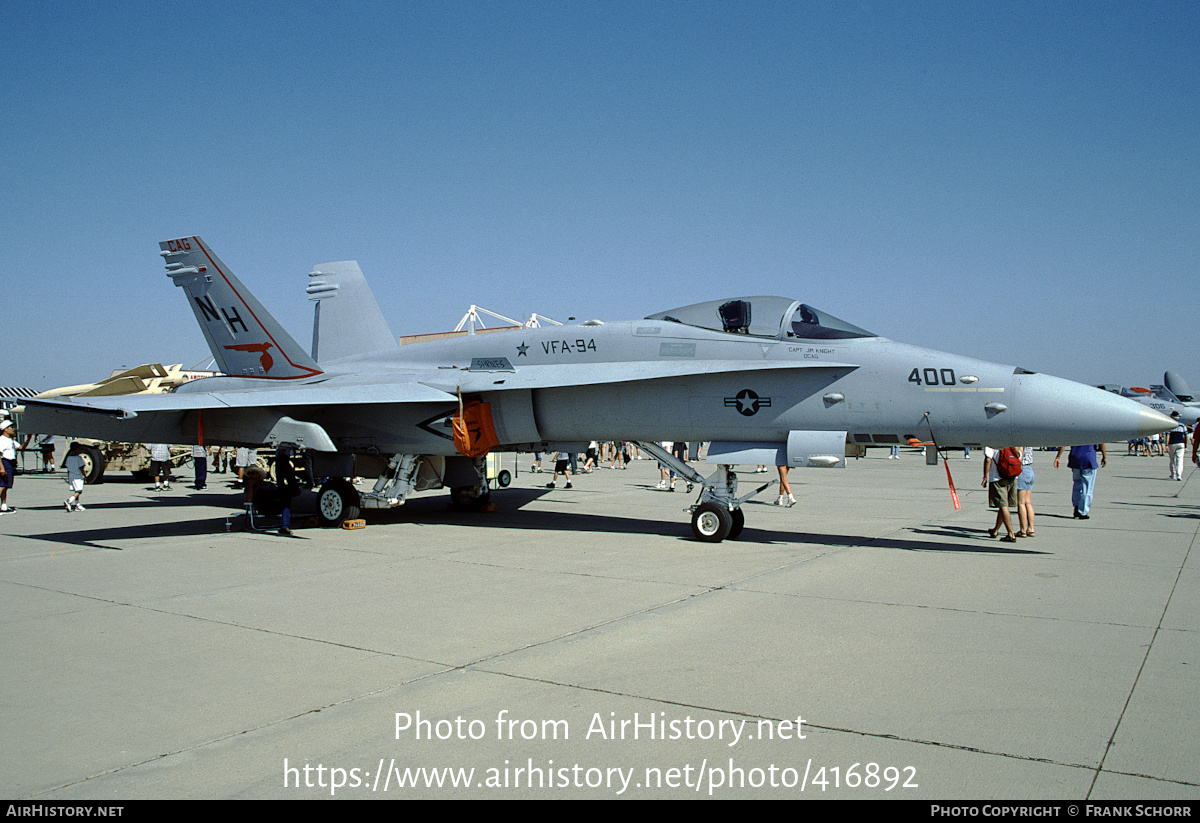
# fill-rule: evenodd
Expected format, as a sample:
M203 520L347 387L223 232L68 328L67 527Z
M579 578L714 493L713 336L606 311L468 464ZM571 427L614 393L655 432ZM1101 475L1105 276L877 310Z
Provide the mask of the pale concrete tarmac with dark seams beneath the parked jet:
M1016 543L979 451L961 510L871 451L721 543L649 461L550 491L522 457L496 512L430 494L295 537L227 533L228 475L76 513L23 475L0 795L1195 800L1200 477L1110 455L1078 521L1037 452Z

